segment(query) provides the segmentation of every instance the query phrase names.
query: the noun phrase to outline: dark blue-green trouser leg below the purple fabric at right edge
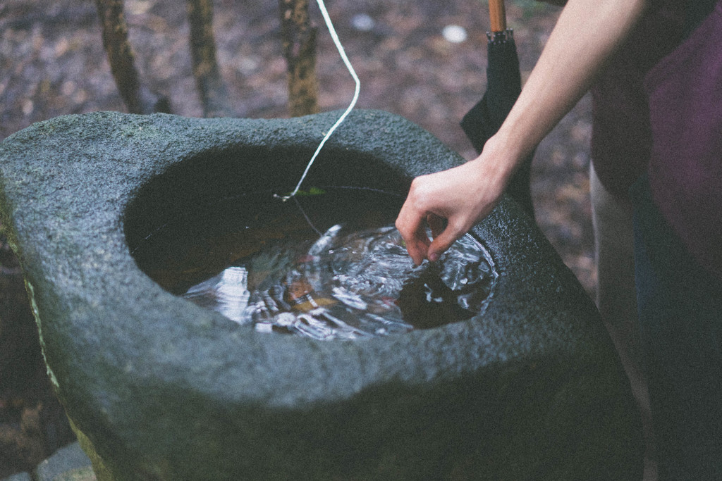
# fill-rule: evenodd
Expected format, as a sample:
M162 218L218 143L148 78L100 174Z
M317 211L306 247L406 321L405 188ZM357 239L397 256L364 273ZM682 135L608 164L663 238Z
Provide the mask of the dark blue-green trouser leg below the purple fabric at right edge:
M659 478L722 480L722 280L685 250L646 177L630 192Z

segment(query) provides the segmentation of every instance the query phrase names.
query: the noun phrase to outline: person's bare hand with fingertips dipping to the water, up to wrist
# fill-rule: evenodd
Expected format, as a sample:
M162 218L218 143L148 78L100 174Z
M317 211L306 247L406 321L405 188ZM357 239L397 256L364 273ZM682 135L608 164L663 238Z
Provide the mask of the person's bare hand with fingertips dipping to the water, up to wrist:
M504 190L502 169L482 157L466 164L422 175L412 182L396 219L414 263L432 262L492 211ZM427 236L427 226L433 240Z

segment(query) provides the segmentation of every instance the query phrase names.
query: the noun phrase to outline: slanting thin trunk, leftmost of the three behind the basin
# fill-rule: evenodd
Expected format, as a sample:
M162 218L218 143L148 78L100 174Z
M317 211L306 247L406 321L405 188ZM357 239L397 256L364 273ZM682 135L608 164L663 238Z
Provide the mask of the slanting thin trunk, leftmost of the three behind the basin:
M170 103L141 84L135 68L135 54L128 41L128 26L123 17L123 0L95 0L103 26L103 47L108 54L110 72L116 80L123 102L131 113L170 112Z

